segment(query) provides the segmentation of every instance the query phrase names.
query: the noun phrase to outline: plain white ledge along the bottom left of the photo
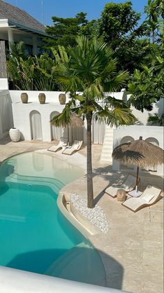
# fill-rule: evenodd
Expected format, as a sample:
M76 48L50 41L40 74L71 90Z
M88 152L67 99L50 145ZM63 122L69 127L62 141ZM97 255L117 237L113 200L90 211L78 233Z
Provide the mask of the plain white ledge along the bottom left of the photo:
M0 266L1 293L120 293L123 291Z

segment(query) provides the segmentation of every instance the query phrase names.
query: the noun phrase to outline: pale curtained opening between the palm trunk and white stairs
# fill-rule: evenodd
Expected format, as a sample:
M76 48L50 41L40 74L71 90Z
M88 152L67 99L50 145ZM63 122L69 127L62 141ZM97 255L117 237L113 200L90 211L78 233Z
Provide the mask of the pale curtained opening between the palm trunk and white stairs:
M105 137L105 122L96 121L95 116L92 119L92 142L93 144L103 144Z

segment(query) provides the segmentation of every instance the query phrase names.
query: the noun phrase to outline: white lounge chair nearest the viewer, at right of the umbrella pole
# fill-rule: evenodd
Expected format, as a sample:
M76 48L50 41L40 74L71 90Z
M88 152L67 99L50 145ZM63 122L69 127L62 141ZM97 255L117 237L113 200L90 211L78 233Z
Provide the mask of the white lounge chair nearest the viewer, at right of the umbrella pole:
M144 190L141 196L138 198L128 198L122 203L124 207L127 207L129 210L133 212L137 212L142 209L142 207L148 207L150 205L154 205L160 198L162 198L161 189L157 187L147 185L147 188Z

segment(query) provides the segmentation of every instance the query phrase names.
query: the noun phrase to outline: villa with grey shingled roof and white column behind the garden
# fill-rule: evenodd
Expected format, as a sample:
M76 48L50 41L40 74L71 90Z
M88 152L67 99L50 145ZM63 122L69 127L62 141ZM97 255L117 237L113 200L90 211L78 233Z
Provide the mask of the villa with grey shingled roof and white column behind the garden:
M23 41L29 54L36 55L47 36L45 26L16 6L0 0L0 41L10 43Z

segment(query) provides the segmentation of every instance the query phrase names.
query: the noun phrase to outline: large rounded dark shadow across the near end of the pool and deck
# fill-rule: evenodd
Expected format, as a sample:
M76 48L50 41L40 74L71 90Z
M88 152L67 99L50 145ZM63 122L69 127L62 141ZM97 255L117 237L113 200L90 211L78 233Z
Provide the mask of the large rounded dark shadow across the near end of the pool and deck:
M6 266L66 280L121 289L123 266L110 255L93 249L88 242L85 244L70 250L36 250L17 254ZM107 267L109 266L107 272L104 268L105 263Z

